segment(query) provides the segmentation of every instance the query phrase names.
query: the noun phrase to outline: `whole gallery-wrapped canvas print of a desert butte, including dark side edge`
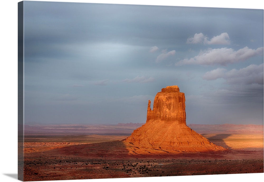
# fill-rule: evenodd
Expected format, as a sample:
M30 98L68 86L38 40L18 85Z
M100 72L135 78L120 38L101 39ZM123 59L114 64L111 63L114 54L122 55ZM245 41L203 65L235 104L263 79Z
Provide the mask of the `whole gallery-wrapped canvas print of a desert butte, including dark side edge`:
M263 10L18 3L18 179L263 173Z

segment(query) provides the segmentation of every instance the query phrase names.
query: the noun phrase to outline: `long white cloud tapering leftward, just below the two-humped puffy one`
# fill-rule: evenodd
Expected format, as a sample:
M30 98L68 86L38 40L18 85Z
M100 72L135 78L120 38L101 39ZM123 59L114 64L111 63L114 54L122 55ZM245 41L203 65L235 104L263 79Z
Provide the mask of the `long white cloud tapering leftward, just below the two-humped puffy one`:
M227 64L245 61L246 59L256 55L263 55L263 47L257 48L256 50L244 47L237 51L231 48L208 49L206 51L201 51L199 55L193 58L180 60L175 64L175 66L185 64L220 64L226 66Z

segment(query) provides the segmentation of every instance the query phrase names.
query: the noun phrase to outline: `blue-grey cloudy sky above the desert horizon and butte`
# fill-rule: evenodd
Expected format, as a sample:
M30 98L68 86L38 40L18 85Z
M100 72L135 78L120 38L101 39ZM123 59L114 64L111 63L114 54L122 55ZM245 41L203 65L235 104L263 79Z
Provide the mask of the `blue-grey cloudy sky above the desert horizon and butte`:
M187 124L263 124L263 10L24 2L24 118L144 123L171 85Z

